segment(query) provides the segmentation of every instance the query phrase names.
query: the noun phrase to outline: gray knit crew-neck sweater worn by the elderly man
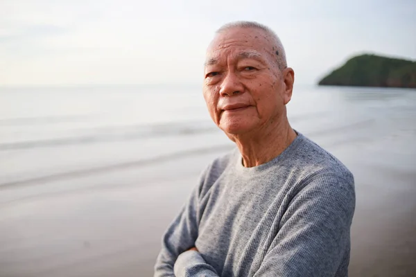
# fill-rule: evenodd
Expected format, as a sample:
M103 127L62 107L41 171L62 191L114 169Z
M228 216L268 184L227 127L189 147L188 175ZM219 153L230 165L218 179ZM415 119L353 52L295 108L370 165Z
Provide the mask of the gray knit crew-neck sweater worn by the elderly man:
M155 276L347 276L354 208L352 173L302 134L254 168L235 150L168 227Z

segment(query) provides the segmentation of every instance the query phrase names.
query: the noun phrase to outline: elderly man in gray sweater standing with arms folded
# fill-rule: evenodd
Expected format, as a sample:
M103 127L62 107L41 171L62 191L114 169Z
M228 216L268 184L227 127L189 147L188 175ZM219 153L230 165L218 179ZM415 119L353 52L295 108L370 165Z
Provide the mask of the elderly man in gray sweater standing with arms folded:
M217 31L203 93L237 148L203 172L164 235L155 276L347 276L354 178L289 125L293 82L268 27Z

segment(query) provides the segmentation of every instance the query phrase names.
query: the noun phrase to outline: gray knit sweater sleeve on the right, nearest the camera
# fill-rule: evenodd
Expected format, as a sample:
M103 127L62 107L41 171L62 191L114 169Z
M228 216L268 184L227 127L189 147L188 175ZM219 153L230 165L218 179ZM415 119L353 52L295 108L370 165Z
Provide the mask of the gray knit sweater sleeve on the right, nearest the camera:
M347 276L354 209L353 177L315 177L291 200L254 277Z

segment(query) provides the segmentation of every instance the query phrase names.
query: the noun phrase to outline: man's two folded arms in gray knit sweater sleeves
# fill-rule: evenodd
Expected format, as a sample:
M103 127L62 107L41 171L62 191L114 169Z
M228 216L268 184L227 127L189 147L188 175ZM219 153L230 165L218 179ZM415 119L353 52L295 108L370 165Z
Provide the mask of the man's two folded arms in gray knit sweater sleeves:
M351 184L338 177L313 180L298 193L281 219L254 277L336 276L349 248L349 228L355 195ZM220 276L198 249L198 189L166 231L155 265L159 276ZM344 259L345 260L345 259ZM346 273L345 273L346 274Z

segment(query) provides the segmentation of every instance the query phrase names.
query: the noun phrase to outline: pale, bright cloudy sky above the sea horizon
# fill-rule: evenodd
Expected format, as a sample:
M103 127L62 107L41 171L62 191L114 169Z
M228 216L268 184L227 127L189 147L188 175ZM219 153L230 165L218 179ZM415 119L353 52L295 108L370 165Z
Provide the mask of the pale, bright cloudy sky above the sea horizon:
M199 84L236 20L275 30L297 84L361 53L416 60L414 0L0 0L0 86Z

